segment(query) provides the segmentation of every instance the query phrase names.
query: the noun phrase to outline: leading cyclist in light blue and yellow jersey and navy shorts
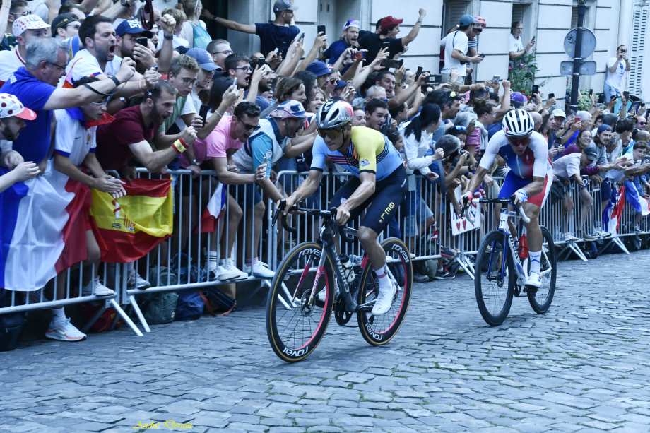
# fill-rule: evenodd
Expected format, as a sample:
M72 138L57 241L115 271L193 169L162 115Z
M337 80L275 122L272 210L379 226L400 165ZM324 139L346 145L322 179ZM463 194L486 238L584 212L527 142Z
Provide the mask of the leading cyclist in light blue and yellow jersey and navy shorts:
M377 316L391 308L397 289L377 237L397 214L408 185L402 158L392 143L379 131L352 126L353 116L352 106L345 101L330 101L318 109L315 121L319 136L312 148L312 167L305 182L286 199L286 205L291 208L314 194L321 183L326 157L354 174L336 191L330 207L337 208L338 225L345 225L365 210L358 238L379 283L377 302L372 307L372 314Z

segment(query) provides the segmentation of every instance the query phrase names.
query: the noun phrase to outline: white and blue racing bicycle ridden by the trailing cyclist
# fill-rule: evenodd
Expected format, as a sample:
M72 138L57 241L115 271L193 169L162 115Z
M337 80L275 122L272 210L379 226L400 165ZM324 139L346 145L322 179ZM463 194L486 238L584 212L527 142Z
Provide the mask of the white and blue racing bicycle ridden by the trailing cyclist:
M528 296L528 302L531 303L531 307L536 313L547 312L553 302L557 276L555 244L550 232L546 227L541 227L543 236L540 258L542 285L539 288L526 286L530 261L519 257L508 222L511 218L514 220L519 216L528 223L530 218L526 216L523 208L514 204L514 196L510 198L480 198L479 203L509 204L514 208L513 211L509 210L507 206L502 207L499 228L488 232L478 247L474 290L480 315L490 326L502 324L510 311L512 297L519 297L522 293ZM466 213L465 210L463 213ZM470 220L470 213L466 213L466 215Z

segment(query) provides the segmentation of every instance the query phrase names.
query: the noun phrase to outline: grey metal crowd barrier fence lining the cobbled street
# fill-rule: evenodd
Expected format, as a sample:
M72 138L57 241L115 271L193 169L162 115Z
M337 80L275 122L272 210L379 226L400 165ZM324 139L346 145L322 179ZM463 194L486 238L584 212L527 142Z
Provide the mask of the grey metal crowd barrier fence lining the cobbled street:
M270 281L266 278L259 278L249 273L245 279L239 280L213 280L206 278L204 249L216 246L218 259L223 258L221 246L225 242L233 243L228 256L235 261L235 266L242 271L244 262L259 257L261 261L268 263L269 268L276 269L283 256L300 242L317 239L321 221L313 215L292 215L290 223L299 227L296 235L285 232L283 227L277 226L271 229L270 222L272 213L268 209L274 208L275 204L270 199L263 199L266 203L266 218L256 215L254 208L242 206L240 222L235 227L230 226L232 210L230 201L246 201L247 191L243 186L225 186L228 191L226 210L217 221L214 232L201 232L201 215L217 186L215 172L203 171L200 179L192 181L192 173L189 170L178 170L169 172L173 178L175 221L174 234L169 239L155 247L149 254L134 263L123 265L111 265L103 263L100 266L100 277L102 282L115 291L110 297L98 297L95 295L82 295L81 287L83 280L83 268L74 271L64 271L59 279L54 278L46 287L36 292L11 292L4 291L0 314L11 312L22 312L32 309L44 309L57 307L59 305L78 304L82 302L98 302L98 311L88 321L82 331L88 331L106 308L112 307L117 314L112 323L112 328L121 317L126 324L141 336L142 333L130 318L130 311L140 321L145 331L150 328L144 319L142 312L136 302L136 295L165 292L172 290L184 290L191 288L206 287L211 285L223 285L232 283L243 283L247 281L259 282L254 292L240 302L240 307L246 304L249 299L263 287L270 287ZM295 171L281 171L278 173L276 186L289 196L295 191L298 185L305 180L307 173ZM325 172L321 188L307 199L306 206L309 208L327 208L334 192L347 180L347 172ZM150 179L160 178L158 174L150 174L144 169L138 169L138 177ZM488 197L496 196L503 182L502 177L494 177L495 183L492 187L485 187L485 194ZM450 208L451 203L447 196L441 196L439 184L432 184L421 176L410 176L408 178L408 195L405 203L399 208L395 221L389 225L389 229L380 235L380 241L386 237L400 237L408 246L414 261L426 259L440 259L441 251L450 249L454 256L450 259L463 268L473 278L474 256L477 252L480 240L485 233L498 225L498 212L495 205L480 206L480 229L470 230L460 235L452 235L451 215L454 213ZM182 191L191 197L183 200ZM446 191L447 192L447 191ZM579 247L581 242L591 242L592 239L585 239L585 234L593 234L596 231L604 231L602 227L602 199L600 185L593 184L584 177L584 188L580 184L569 184L562 186L564 198L550 194L548 201L540 213L540 224L545 225L553 235L555 244L561 247L558 257L565 260L573 252L579 259L586 261L587 258ZM449 193L451 194L451 193ZM447 195L447 194L445 194ZM591 205L589 205L591 201ZM584 203L584 209L583 209ZM192 205L192 206L190 206ZM233 206L234 208L234 206ZM430 212L427 210L430 210ZM615 243L622 251L630 254L622 242L622 237L636 235L634 231L634 209L626 203L622 213L620 230L617 234L604 238L604 246L598 254ZM254 239L247 236L245 225L250 215L252 224L261 223L260 241L254 247ZM495 216L496 215L496 216ZM261 221L259 220L261 218ZM358 227L362 221L363 213L354 221L348 223ZM643 232L650 234L650 218L642 218L639 223ZM230 230L232 229L232 230ZM195 232L196 230L196 232ZM231 235L235 233L235 239ZM222 233L220 239L215 239L216 234ZM571 236L568 236L571 234ZM264 235L264 236L263 236ZM245 256L244 246L249 245L250 257ZM227 248L226 248L227 249ZM353 263L360 264L363 251L360 242L341 242L341 251L348 254ZM151 287L146 289L128 288L126 275L129 268L134 268L144 280L148 280ZM176 278L172 278L175 274ZM95 275L92 275L94 278ZM177 279L177 283L172 280ZM57 284L63 283L65 290L57 290ZM59 286L59 289L61 287ZM58 294L57 294L58 292ZM122 307L126 308L126 312ZM285 306L290 308L290 306Z

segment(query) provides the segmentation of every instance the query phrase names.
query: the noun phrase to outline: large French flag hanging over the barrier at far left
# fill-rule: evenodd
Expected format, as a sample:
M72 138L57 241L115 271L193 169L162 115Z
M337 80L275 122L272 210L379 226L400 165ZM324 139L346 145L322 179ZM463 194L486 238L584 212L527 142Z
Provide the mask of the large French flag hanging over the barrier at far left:
M0 168L0 174L8 170ZM0 287L31 291L88 257L90 189L54 170L0 194ZM81 223L80 223L81 221Z

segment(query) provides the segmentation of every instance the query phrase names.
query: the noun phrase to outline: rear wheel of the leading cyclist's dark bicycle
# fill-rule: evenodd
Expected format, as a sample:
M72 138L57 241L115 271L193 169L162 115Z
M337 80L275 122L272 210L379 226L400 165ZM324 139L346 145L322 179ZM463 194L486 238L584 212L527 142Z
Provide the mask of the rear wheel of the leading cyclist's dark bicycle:
M397 290L391 309L385 314L373 316L370 312L357 313L361 335L374 346L388 343L399 331L406 317L410 295L413 291L413 265L404 242L396 237L390 237L382 242L382 247L386 251L386 264L389 265L389 270L390 268L396 270L399 267L403 271L404 284ZM397 276L393 276L398 281ZM377 299L377 290L379 290L379 283L377 283L377 277L372 272L372 265L369 262L361 275L357 303L364 304Z

